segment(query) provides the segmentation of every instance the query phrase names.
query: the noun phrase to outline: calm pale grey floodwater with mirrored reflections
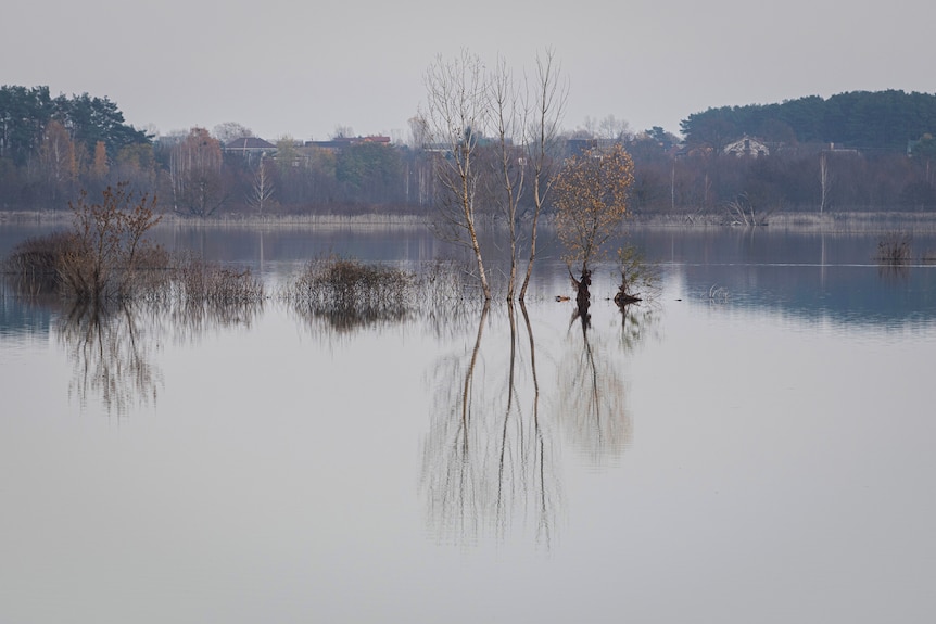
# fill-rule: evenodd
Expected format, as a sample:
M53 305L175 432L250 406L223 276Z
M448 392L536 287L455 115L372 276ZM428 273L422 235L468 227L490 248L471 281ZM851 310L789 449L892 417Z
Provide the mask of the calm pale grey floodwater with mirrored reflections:
M160 237L270 289L447 253ZM526 307L369 324L4 290L0 622L928 622L936 267L882 270L874 233L632 237L659 292L622 315L596 271L587 330L548 246Z

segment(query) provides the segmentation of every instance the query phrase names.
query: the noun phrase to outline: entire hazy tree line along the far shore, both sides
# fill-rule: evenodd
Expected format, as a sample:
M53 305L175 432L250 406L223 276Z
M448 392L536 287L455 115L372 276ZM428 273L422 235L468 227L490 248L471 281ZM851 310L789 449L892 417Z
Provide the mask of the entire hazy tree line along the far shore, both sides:
M683 122L684 140L659 127L630 133L610 122L566 132L565 155L623 144L634 163L629 205L637 215L720 213L738 198L759 211L936 209L936 95L852 92L710 109ZM81 190L94 195L127 182L156 195L161 209L198 217L421 213L441 192L433 176L440 152L417 124L412 130L409 144L322 148L282 137L248 155L225 150L251 136L237 124L155 138L128 125L106 98L4 86L0 209L67 209ZM764 152L725 153L744 137ZM477 137L479 163L485 149L496 161L498 138L483 139ZM501 206L481 191L479 214L496 217ZM519 202L522 214L532 193Z

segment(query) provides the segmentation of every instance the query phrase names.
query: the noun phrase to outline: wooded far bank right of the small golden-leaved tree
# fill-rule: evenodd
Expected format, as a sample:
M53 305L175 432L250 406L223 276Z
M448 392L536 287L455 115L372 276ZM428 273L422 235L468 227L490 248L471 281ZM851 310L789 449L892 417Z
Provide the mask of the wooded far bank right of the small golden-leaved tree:
M673 158L654 141L632 147L638 207L706 209L744 195L770 209L936 209L936 95L857 91L724 106L690 115L681 129ZM725 154L743 137L769 155Z

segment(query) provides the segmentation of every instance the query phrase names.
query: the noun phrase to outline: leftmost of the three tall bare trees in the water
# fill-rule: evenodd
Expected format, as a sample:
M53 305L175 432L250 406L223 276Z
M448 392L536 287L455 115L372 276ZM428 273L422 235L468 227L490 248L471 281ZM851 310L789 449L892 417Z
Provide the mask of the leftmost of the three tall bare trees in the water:
M426 72L426 110L420 125L435 154L435 179L441 189L438 199L445 238L470 247L478 269L478 280L485 301L491 286L478 240L476 204L482 167L477 162L479 139L490 119L488 86L481 60L463 50L446 61L439 56Z

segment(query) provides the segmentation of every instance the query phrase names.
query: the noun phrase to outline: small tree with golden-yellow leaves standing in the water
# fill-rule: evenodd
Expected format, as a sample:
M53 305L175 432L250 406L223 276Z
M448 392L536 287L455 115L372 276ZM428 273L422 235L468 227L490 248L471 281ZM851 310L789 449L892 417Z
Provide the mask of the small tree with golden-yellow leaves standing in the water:
M572 280L583 314L591 300L592 263L600 259L608 241L620 234L633 182L634 163L620 144L609 150L593 148L570 157L556 179L556 230L566 249L569 273L572 265L581 267L579 278L572 276Z

